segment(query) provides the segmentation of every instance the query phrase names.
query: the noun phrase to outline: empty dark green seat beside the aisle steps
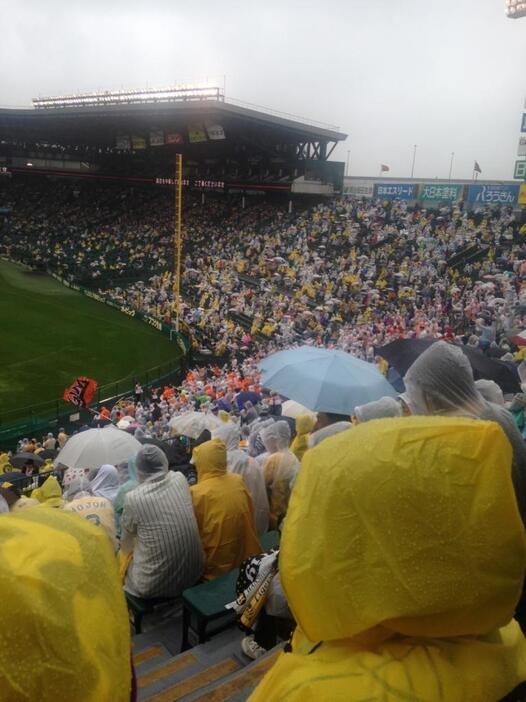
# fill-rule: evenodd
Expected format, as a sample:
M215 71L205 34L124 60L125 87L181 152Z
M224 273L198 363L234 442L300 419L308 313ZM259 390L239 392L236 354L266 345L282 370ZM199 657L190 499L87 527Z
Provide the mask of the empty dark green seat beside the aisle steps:
M269 531L261 537L263 551L279 546L279 531ZM236 581L239 568L220 578L210 580L190 587L183 592L183 639L181 651L190 648L188 635L190 629L197 635L198 643L204 643L207 638L206 628L210 622L223 618L222 626L217 627L217 633L229 626L235 619L233 613L225 610L225 605L236 599ZM210 635L210 634L209 634Z

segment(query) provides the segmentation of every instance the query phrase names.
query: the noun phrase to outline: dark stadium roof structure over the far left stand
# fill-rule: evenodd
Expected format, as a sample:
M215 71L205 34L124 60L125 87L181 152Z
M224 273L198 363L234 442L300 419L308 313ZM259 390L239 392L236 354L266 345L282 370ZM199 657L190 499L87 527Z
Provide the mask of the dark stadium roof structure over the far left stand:
M15 173L155 180L172 175L179 152L188 184L341 191L344 164L328 159L345 134L330 125L226 102L215 90L180 99L159 99L154 91L141 100L136 93L45 98L35 100L34 109L0 109L0 165Z

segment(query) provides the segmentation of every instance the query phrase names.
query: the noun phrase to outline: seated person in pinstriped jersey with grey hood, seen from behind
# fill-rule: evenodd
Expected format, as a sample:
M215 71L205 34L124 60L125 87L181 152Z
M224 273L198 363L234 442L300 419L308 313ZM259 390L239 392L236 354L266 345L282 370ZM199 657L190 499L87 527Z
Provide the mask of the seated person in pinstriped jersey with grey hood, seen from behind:
M190 489L153 444L135 457L138 487L124 500L121 551L133 555L124 589L137 597L177 597L203 572L204 556Z

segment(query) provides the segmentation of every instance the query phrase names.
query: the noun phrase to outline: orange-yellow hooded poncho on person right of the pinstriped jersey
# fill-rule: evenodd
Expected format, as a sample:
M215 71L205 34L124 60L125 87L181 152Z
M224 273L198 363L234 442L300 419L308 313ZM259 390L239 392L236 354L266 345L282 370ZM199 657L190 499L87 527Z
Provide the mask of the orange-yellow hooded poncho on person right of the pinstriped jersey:
M197 485L192 502L205 552L203 578L212 580L261 552L252 500L243 478L227 472L226 446L221 439L206 441L193 452Z

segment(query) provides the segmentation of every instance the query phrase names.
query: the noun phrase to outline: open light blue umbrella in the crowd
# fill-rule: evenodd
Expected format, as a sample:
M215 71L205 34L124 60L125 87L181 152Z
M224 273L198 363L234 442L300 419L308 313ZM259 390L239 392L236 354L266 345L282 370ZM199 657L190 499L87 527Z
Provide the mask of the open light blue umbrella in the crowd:
M396 397L376 366L344 351L300 346L259 363L261 385L315 412L351 415L358 405Z

